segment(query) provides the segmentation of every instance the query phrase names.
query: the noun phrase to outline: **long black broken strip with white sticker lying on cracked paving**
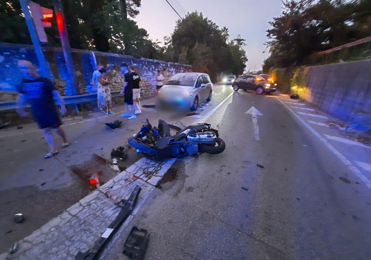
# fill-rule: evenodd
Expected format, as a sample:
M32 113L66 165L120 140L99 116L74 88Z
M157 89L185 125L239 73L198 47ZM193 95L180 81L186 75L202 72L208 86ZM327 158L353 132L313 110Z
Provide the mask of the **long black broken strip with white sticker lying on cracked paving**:
M108 226L108 228L106 228L106 231L104 231L101 237L95 242L94 246L85 253L81 253L79 251L75 257L75 260L98 259L99 253L101 253L106 243L112 238L114 233L133 211L140 191L141 188L138 185L135 186L134 191L131 192L128 199L122 199L116 204L118 207L122 208L116 219L111 223L111 225Z

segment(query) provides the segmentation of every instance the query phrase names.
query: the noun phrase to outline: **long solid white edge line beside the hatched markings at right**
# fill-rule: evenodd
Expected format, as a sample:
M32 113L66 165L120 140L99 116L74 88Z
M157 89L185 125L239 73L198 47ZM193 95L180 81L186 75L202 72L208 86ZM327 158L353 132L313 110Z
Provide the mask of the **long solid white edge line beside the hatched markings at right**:
M345 158L344 155L342 155L338 150L335 149L334 146L332 146L329 142L327 142L326 139L324 139L321 134L319 134L316 130L314 130L311 126L309 126L308 123L306 123L301 117L299 117L294 111L292 111L291 108L289 108L285 103L283 103L279 98L277 98L279 102L281 102L306 128L308 128L328 149L331 150L332 153L336 157L338 157L342 163L348 166L349 170L351 170L359 179L361 179L362 182L365 183L367 188L371 189L371 181L364 176L360 170L358 170L352 163Z

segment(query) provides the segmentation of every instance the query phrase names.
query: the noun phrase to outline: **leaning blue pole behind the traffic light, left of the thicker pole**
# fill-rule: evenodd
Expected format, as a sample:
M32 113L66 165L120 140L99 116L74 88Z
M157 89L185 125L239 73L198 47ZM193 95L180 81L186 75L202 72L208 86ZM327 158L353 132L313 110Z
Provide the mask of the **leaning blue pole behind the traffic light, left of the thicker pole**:
M33 46L35 48L37 60L39 61L41 75L47 78L53 78L52 71L50 70L50 67L49 67L49 63L47 63L44 57L43 50L40 45L39 37L37 36L35 25L33 24L30 10L28 8L27 0L19 0L19 3L21 5L21 8L24 14L24 19L26 19L26 24L30 32Z

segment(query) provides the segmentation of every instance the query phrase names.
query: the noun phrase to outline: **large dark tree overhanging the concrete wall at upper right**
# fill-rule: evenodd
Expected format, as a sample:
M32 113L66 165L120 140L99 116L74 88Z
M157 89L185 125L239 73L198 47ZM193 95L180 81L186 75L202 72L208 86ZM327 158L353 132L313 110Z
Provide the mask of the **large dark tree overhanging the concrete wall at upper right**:
M283 4L282 14L269 22L267 30L270 65L302 65L312 53L371 35L370 0L286 0Z

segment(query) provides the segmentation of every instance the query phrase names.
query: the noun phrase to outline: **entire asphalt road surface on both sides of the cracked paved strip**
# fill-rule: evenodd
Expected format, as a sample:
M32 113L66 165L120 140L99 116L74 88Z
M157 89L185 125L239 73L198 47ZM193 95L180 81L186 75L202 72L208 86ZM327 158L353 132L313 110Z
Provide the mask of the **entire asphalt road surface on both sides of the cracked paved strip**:
M226 150L177 160L100 259L126 259L133 225L150 231L151 260L370 259L370 147L347 142L344 131L326 127L331 118L296 100L232 92L216 85L199 115L171 119L148 108L137 120L122 118L116 130L104 123L119 114L65 118L72 144L49 160L42 159L47 145L35 124L1 131L0 252L88 194L86 178L97 168L104 182L115 176L111 149L124 145L146 116L187 126L213 111L207 122ZM121 169L139 158L128 150ZM12 221L18 212L26 215L22 224Z

